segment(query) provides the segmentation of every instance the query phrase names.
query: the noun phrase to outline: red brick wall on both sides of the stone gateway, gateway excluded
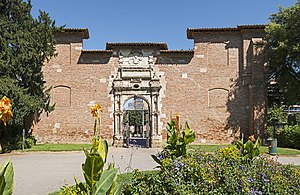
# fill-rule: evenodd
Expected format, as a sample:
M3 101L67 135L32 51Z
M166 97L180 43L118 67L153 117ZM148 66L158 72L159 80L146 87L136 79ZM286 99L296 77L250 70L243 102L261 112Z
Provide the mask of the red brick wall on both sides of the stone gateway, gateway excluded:
M157 56L155 66L165 79L161 122L164 127L170 114L179 113L182 122L188 121L196 131L197 142L229 143L241 132L252 132L250 128L256 120L253 117L264 117L264 112L253 114L253 106L265 101L264 88L249 88L253 78L257 78L252 71L263 71L261 63L252 68L250 44L253 37L262 37L262 33L228 31L195 37L194 55L172 54L176 64L172 60L164 64ZM56 108L48 116L40 116L33 127L34 135L39 142L89 142L93 118L88 104L100 101L102 135L112 141L110 81L118 58L101 52L82 53L78 33L60 34L57 40L58 55L43 68L46 85L53 87L52 103L56 103ZM179 64L181 59L187 63ZM264 78L259 79L264 82Z

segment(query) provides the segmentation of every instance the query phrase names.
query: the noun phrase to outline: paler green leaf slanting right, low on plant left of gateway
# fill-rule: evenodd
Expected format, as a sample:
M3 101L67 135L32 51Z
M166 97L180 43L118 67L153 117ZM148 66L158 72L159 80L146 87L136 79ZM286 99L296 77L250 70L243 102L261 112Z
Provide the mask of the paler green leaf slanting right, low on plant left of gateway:
M116 179L117 174L118 174L118 169L116 168L104 170L102 172L99 181L97 181L96 183L95 194L100 194L100 195L106 194L111 188L114 180Z

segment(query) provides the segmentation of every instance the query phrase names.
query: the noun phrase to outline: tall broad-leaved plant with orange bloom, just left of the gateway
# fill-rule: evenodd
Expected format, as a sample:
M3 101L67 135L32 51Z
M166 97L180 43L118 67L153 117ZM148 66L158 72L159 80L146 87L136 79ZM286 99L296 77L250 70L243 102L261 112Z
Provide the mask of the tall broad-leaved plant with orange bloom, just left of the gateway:
M82 171L86 183L79 182L75 178L75 188L66 186L63 188L62 194L119 195L121 188L117 184L117 168L114 167L114 164L110 163L108 168L104 170L108 153L108 143L106 140L101 139L97 133L97 126L99 126L99 134L101 131L102 106L97 103L90 108L90 111L92 116L95 118L95 123L92 148L89 151L84 149L86 159L82 164Z

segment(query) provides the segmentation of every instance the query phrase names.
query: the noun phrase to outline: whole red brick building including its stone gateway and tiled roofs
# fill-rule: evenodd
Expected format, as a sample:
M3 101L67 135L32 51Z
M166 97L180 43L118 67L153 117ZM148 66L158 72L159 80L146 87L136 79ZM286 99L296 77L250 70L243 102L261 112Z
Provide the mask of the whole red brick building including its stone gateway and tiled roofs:
M55 34L58 55L43 67L56 108L39 116L33 134L39 142L89 142L89 106L100 102L101 135L116 146L133 140L161 145L175 113L196 131L197 142L262 136L263 36L264 25L196 28L187 29L193 50L168 50L166 43L107 43L106 50L84 50L88 29L65 29ZM142 120L138 126L130 124L133 112Z

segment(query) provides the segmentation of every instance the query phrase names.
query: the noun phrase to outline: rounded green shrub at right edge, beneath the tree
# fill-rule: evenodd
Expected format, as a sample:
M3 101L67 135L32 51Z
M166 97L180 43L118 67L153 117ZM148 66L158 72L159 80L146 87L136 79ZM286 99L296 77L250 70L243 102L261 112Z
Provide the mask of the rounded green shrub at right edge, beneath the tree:
M285 126L279 131L278 146L300 149L300 125Z

